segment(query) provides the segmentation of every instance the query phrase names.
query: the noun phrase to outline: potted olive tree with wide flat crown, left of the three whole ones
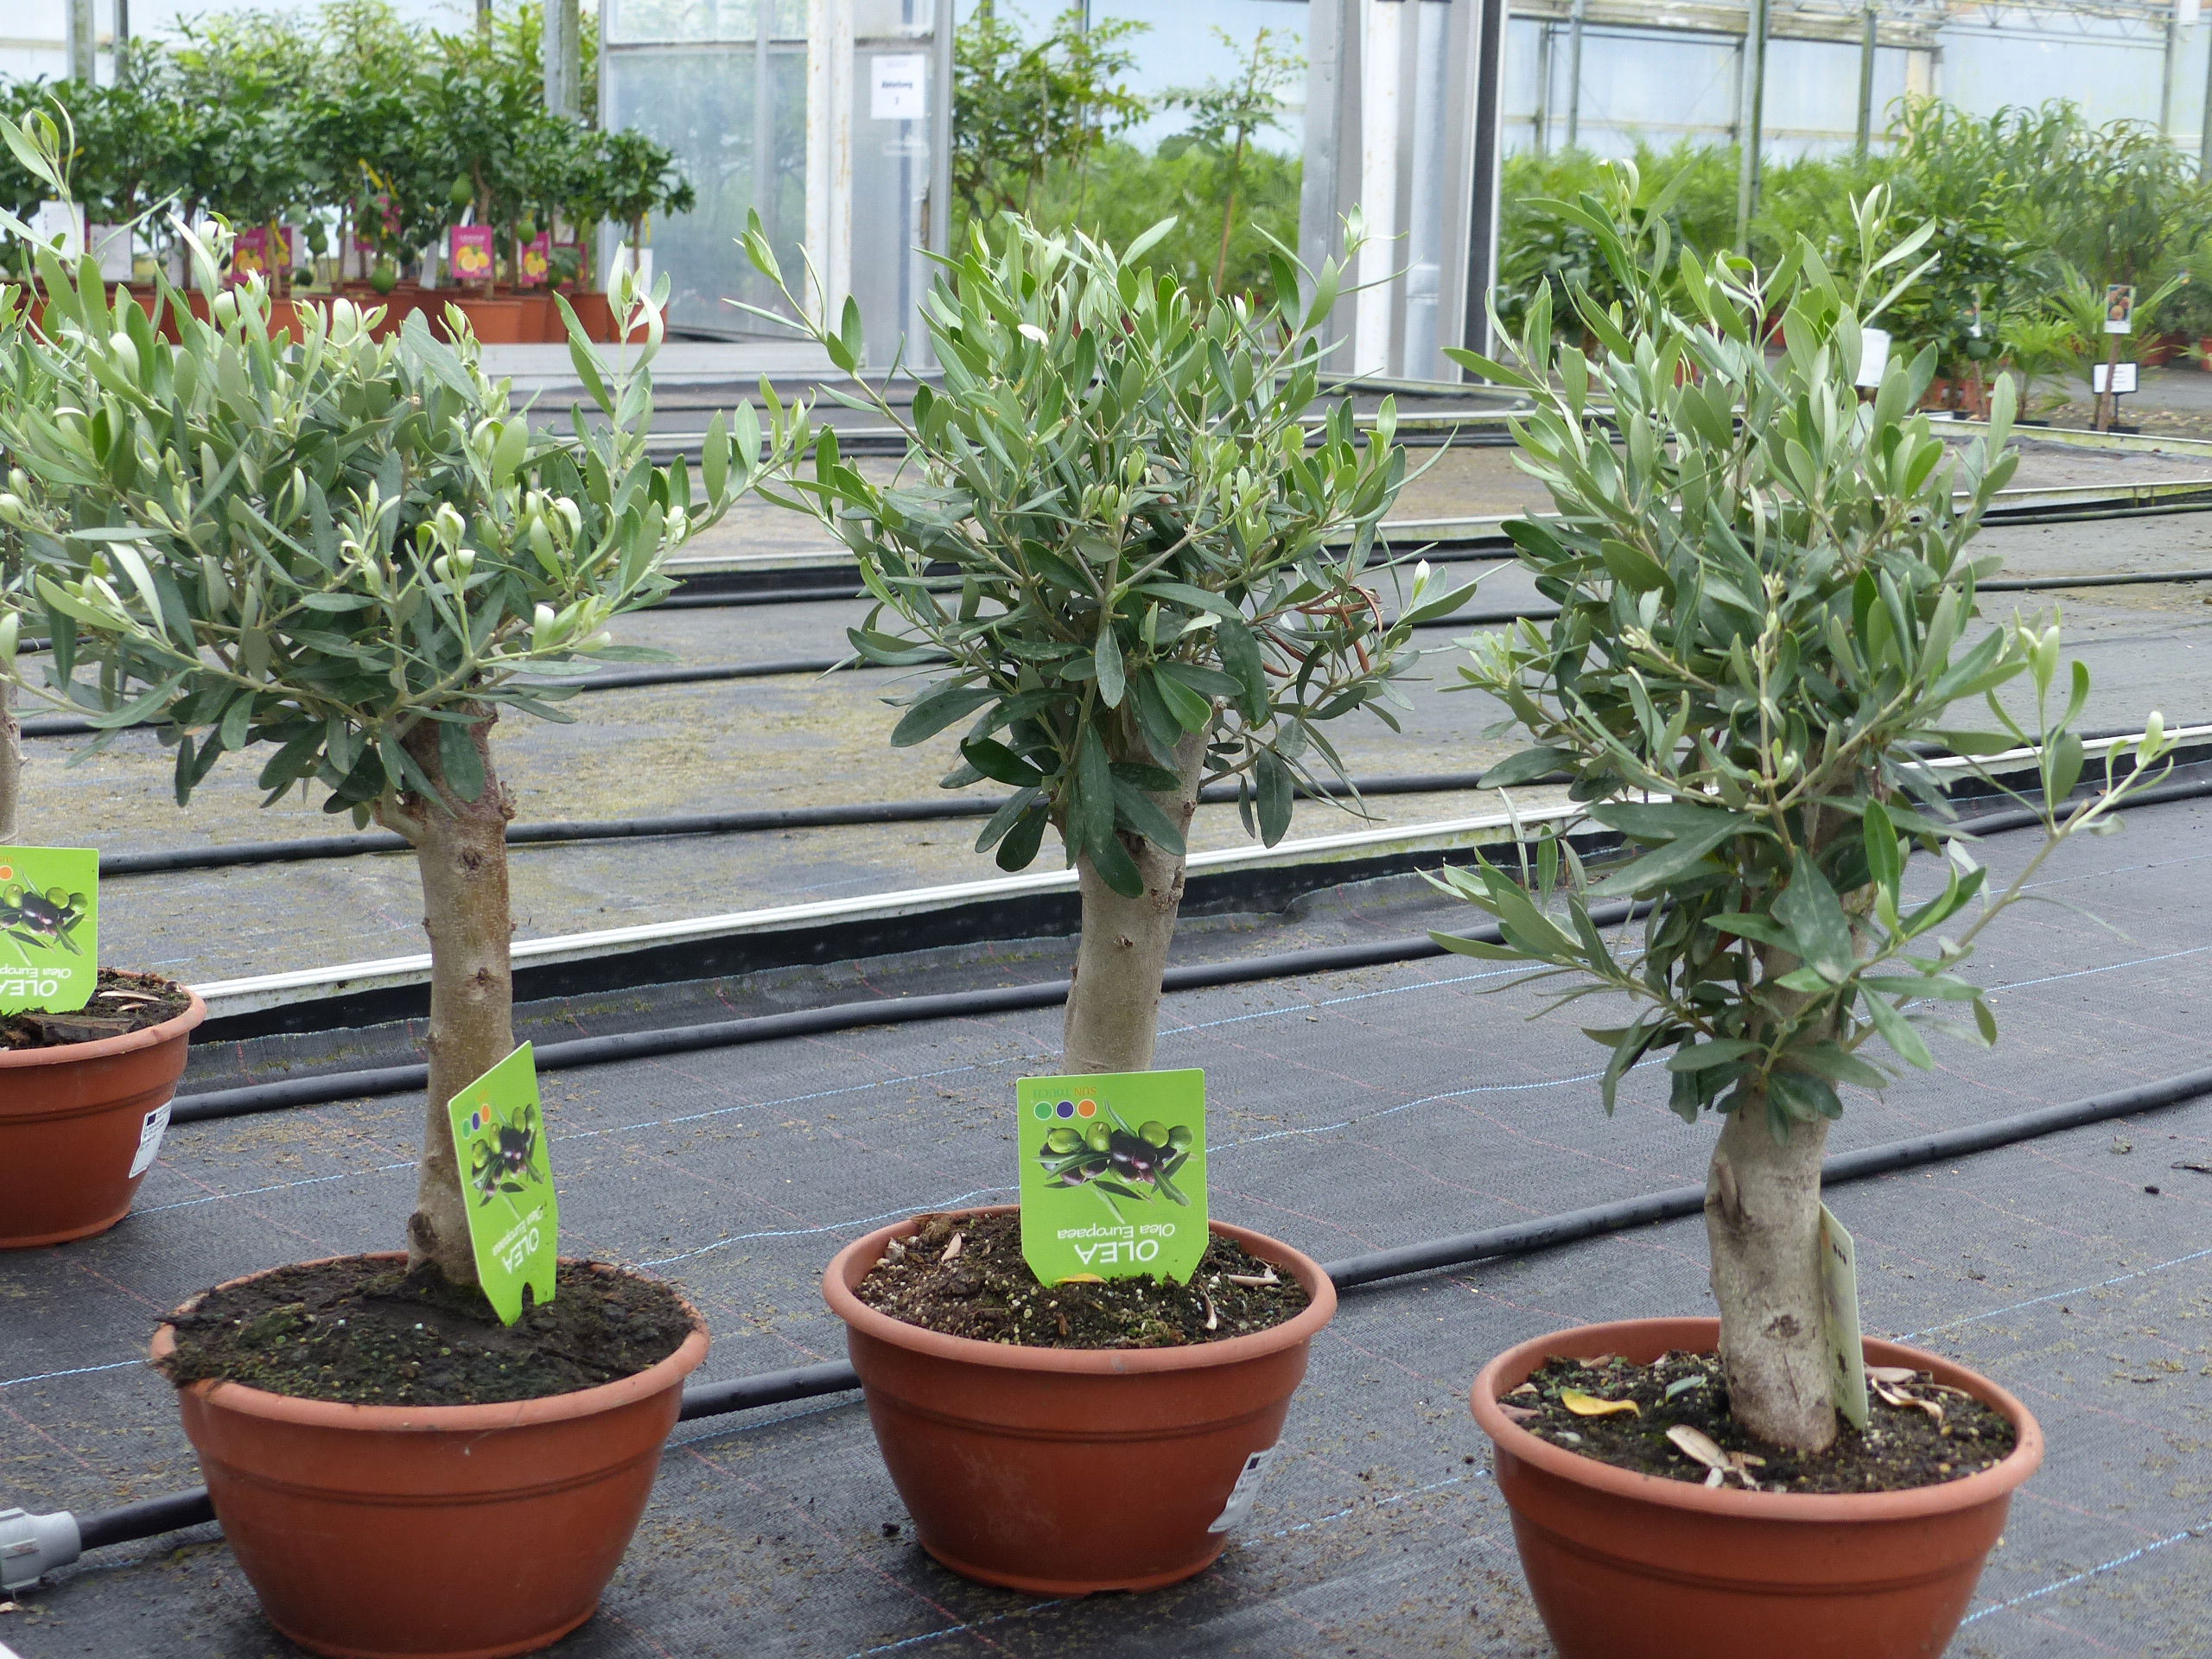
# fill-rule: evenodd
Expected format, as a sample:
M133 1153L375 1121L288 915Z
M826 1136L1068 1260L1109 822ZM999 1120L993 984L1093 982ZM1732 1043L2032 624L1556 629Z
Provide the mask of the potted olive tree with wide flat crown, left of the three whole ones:
M212 270L215 250L192 254ZM480 1290L467 1206L504 1188L458 1166L447 1102L513 1048L513 807L491 737L504 714L557 717L533 675L635 655L606 624L668 591L664 555L752 482L761 436L750 411L717 420L697 484L646 460L653 303L622 378L575 345L604 422L566 436L509 407L467 334L449 347L411 316L378 341L338 301L288 347L265 307L259 285L221 294L166 347L135 307L117 327L97 288L58 294L60 407L0 411L53 692L106 726L157 721L179 799L261 748L270 801L301 790L374 818L422 876L429 1097L407 1254L217 1287L155 1352L285 1635L522 1652L591 1617L706 1329L666 1285L591 1263L562 1263L513 1325ZM113 431L133 434L128 462ZM82 568L40 571L44 546ZM513 1130L520 1168L546 1130Z

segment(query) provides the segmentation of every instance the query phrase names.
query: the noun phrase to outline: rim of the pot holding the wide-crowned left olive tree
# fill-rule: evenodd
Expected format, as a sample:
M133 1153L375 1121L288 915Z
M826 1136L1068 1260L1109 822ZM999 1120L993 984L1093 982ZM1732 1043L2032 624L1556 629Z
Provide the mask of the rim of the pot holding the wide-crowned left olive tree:
M405 1261L405 1250L358 1250L347 1256L316 1256L314 1261L283 1263L283 1267L321 1267L330 1261ZM577 1261L577 1256L562 1256L562 1261ZM641 1274L628 1267L617 1267L611 1261L588 1263L602 1272L628 1272L633 1279ZM199 1292L186 1301L177 1312L186 1312L217 1290L230 1290L230 1285L243 1285L252 1279L261 1279L272 1272L283 1272L283 1267L263 1267L261 1272L239 1274L237 1279L226 1279L210 1290ZM675 1290L670 1285L670 1290ZM644 1371L633 1371L630 1376L617 1376L613 1383L595 1383L588 1389L571 1389L568 1394L544 1394L535 1400L493 1400L491 1405L354 1405L349 1400L307 1400L296 1394L270 1394L268 1389L257 1389L250 1383L230 1383L223 1378L201 1378L199 1383L186 1383L179 1394L192 1394L201 1405L219 1407L223 1411L237 1411L239 1416L261 1418L265 1422L290 1422L305 1429L358 1429L363 1433L484 1433L489 1429L529 1429L549 1422L568 1422L571 1418L591 1418L602 1411L615 1411L626 1405L635 1405L661 1389L681 1383L686 1376L699 1369L706 1360L708 1349L708 1327L699 1310L692 1307L690 1298L677 1294L684 1303L684 1312L690 1316L690 1336L686 1336L675 1354L655 1360ZM161 1360L177 1349L177 1327L166 1318L153 1334L148 1358Z

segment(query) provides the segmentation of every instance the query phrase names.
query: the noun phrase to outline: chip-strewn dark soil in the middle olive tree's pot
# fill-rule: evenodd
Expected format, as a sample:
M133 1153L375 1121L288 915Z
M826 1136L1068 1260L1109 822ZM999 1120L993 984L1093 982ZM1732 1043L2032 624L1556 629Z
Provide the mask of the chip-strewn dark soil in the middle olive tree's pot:
M1042 1285L1022 1256L1022 1217L922 1217L854 1292L947 1336L1018 1347L1183 1347L1250 1336L1305 1312L1290 1274L1212 1234L1188 1285L1164 1279Z

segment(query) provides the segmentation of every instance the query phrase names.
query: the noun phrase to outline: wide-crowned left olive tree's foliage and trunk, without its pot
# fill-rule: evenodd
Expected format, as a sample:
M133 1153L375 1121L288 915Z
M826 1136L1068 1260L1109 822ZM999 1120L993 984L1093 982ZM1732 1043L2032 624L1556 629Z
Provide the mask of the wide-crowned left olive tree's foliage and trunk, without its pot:
M210 288L219 248L190 243ZM46 338L7 336L53 396L0 405L0 502L53 637L40 690L111 737L150 723L177 801L226 754L261 752L268 803L303 792L416 849L431 945L429 1099L414 1263L473 1285L447 1099L513 1048L502 714L566 719L549 668L650 653L608 622L664 595L670 549L763 460L752 411L717 416L697 478L646 458L657 303L608 380L571 316L597 420L533 431L420 314L374 341L334 303L305 341L268 332L259 283L177 316L166 345L97 272L44 254ZM29 367L24 367L29 361ZM29 675L18 668L20 684ZM97 739L97 750L106 737Z

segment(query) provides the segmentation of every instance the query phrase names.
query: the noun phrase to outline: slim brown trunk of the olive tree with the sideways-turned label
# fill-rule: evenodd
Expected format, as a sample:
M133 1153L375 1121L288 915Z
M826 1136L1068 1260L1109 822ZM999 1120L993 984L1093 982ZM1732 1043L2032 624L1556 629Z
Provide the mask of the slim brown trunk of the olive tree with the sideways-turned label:
M469 1201L453 1155L447 1102L507 1060L515 1046L515 982L509 967L513 918L507 907L507 821L513 799L491 765L491 721L469 728L484 787L465 801L438 759L438 721L420 721L403 745L438 785L440 801L405 794L378 816L407 836L422 878L422 931L429 933L429 1095L416 1208L407 1217L407 1265L438 1267L473 1285Z

